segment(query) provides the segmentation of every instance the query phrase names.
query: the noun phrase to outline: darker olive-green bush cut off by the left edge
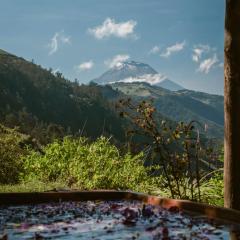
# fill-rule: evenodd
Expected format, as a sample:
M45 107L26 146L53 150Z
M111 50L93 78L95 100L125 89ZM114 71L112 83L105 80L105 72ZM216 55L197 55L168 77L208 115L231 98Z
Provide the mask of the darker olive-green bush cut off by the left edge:
M21 157L27 154L24 148L28 136L0 125L0 183L13 184L19 181L22 169Z

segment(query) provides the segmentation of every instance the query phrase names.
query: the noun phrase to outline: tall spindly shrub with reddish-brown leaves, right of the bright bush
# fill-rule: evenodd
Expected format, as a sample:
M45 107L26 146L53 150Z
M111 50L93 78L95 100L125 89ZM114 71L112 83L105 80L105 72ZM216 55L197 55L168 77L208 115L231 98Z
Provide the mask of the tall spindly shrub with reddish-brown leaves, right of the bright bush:
M166 188L172 198L204 201L201 179L215 169L218 161L207 139L201 138L197 128L202 127L201 124L159 121L161 115L150 101L134 103L131 99L122 99L117 108L120 116L132 123L128 131L131 138L136 135L145 138L155 174L162 176L159 189Z

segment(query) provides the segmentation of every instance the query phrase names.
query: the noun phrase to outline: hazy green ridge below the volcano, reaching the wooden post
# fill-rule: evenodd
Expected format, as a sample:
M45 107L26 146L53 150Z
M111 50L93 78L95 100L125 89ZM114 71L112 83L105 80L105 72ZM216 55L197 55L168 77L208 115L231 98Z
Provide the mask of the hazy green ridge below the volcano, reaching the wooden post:
M114 90L135 99L151 98L158 111L174 121L199 121L210 137L223 137L223 96L190 90L172 92L147 83L114 83Z

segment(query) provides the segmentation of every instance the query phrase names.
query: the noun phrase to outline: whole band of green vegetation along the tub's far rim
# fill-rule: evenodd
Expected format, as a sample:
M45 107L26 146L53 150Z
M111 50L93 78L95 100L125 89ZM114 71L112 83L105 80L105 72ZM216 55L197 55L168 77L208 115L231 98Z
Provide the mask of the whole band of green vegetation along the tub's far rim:
M137 154L120 151L111 139L100 137L65 137L45 147L36 148L28 136L16 129L1 126L0 192L47 191L56 189L121 189L145 192L166 197L172 196L161 164L149 165L145 151ZM172 188L179 190L191 183L192 191L175 198L192 199L201 193L201 199L192 200L223 205L223 178L221 171L199 179L181 175L176 184L173 169L168 169ZM175 179L175 180L174 180ZM190 181L191 180L191 181ZM185 183L184 183L185 181ZM194 184L195 187L194 188Z

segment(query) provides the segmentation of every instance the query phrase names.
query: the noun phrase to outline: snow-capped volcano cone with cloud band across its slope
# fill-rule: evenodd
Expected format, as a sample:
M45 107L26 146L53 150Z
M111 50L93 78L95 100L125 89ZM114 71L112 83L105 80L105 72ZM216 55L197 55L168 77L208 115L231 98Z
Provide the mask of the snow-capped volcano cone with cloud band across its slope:
M135 61L120 62L102 74L99 78L94 79L93 82L98 84L146 82L171 91L184 89L182 86L167 79L165 75L158 73L148 64ZM161 86L161 84L163 84L163 86Z

